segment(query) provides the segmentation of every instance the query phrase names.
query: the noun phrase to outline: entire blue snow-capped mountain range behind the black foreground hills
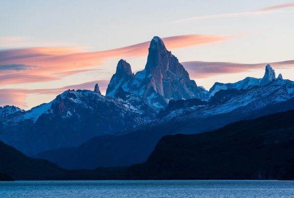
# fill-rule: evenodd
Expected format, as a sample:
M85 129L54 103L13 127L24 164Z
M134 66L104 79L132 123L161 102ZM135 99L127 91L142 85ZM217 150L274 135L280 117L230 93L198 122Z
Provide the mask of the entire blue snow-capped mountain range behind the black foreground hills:
M106 90L67 90L24 111L0 108L0 140L63 169L143 163L166 135L198 134L294 109L294 82L270 65L265 75L237 83L197 86L155 36L144 70L121 59Z

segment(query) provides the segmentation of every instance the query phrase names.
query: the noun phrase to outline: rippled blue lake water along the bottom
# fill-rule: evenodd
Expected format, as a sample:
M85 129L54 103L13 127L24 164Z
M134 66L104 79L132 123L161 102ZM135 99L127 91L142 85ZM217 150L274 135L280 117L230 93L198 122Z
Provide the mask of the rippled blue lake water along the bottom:
M16 181L0 182L0 198L289 198L294 181Z

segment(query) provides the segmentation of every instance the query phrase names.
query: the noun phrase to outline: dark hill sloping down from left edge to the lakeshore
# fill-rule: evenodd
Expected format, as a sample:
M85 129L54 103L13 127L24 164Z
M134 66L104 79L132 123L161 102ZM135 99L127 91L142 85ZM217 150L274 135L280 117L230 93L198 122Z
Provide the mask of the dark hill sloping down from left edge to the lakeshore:
M12 180L72 180L122 179L126 168L95 170L65 170L42 159L27 157L24 153L0 141L0 181Z

